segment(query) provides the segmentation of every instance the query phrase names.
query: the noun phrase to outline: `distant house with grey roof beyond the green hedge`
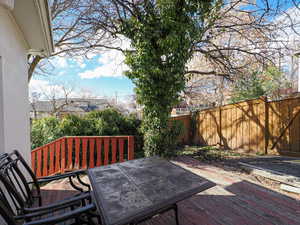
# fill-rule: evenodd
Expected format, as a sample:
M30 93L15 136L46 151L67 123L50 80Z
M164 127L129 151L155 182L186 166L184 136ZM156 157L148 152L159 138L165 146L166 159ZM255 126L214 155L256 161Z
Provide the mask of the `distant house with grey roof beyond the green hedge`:
M67 114L83 116L87 112L100 111L110 107L106 99L68 98L55 101L36 101L30 104L30 118L40 119L48 116L62 117Z

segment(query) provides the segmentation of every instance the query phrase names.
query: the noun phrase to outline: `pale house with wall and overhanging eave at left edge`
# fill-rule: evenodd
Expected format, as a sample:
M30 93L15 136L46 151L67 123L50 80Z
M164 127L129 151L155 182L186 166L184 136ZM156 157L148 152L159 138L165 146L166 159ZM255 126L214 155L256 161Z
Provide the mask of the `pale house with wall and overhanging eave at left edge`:
M47 0L0 0L0 153L30 160L28 55L53 50Z

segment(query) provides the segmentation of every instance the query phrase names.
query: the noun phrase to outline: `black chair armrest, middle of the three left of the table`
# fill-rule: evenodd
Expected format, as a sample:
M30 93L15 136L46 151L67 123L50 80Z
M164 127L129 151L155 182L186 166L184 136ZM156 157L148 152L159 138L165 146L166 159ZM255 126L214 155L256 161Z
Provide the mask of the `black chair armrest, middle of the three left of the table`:
M43 212L46 212L48 210L51 210L51 211L59 210L59 209L62 209L62 208L72 206L72 205L74 205L74 203L85 200L85 199L87 199L87 200L91 199L91 195L90 195L89 192L77 195L75 197L72 197L72 198L69 198L69 199L66 199L66 200L62 200L62 201L58 201L58 202L55 202L55 203L52 203L52 204L48 204L46 206L34 207L34 208L24 208L24 213L34 213L34 212L43 213ZM26 214L21 215L21 217L24 217L24 216L26 216Z

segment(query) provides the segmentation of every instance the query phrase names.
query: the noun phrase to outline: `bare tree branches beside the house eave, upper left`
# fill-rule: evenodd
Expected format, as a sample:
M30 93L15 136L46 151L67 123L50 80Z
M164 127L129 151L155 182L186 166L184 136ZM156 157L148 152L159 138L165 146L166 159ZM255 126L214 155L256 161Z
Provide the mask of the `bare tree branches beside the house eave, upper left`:
M33 73L48 74L54 56L87 57L89 52L113 49L113 40L105 30L86 23L94 11L93 0L50 0L55 52L50 58L28 56L28 82ZM51 69L50 69L51 70Z

